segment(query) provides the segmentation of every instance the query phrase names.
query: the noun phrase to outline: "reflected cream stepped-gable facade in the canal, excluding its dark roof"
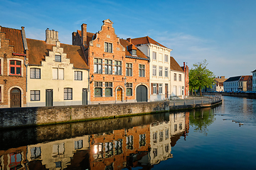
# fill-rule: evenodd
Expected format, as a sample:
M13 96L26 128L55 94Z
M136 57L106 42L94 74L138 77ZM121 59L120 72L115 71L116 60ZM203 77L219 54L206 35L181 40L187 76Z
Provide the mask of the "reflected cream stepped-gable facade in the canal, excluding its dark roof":
M28 145L28 162L41 161L46 169L66 169L76 153L89 149L89 136Z

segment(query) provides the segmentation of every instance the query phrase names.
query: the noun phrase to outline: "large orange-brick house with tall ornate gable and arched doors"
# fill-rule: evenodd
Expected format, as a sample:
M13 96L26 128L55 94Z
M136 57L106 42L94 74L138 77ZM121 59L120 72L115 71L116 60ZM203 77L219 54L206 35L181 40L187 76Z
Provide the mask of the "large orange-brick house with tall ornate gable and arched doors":
M73 45L80 45L90 67L90 103L149 101L149 58L128 40L114 33L110 19L97 33L87 25L73 33Z

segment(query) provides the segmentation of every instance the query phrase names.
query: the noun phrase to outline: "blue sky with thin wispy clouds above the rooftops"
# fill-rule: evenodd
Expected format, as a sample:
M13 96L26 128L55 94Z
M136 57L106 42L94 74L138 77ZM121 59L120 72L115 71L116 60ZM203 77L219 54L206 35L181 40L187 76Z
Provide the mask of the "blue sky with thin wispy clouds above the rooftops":
M26 38L46 40L58 30L61 43L87 24L97 33L110 19L119 38L149 36L172 49L178 64L206 59L216 77L252 75L256 69L255 0L23 1L0 0L0 26L21 29Z

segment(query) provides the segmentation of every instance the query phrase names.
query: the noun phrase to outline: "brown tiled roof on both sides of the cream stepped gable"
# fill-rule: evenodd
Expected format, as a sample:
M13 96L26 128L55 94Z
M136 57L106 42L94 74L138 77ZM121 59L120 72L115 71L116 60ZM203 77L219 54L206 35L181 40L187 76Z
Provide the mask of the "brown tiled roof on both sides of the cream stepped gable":
M55 46L46 44L43 40L33 40L29 38L26 40L29 50L28 64L41 65L41 61L45 61L45 57L49 55L49 51L53 51L53 46ZM74 64L74 68L89 69L80 46L60 43L60 47L63 47L63 52L67 54L70 63Z

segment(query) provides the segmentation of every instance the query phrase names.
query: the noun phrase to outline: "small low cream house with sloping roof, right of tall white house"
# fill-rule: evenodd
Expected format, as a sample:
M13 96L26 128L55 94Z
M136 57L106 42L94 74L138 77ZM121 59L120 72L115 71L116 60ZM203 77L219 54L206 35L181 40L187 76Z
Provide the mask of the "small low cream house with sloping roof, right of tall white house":
M171 59L171 98L184 98L185 73L178 65L174 57Z

